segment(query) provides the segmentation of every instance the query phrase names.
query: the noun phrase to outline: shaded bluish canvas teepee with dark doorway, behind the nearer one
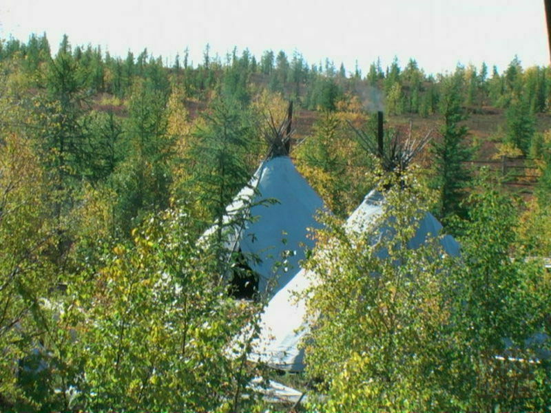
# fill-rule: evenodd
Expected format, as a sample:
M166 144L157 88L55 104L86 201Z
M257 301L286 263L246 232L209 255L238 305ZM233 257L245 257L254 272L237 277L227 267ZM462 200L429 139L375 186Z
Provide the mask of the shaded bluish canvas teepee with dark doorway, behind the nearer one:
M262 202L271 200L272 202ZM226 209L225 247L241 251L258 274L258 292L273 295L292 279L313 247L309 228L319 228L315 215L323 201L297 171L289 156L262 162L249 184ZM203 238L216 232L209 229ZM258 260L256 260L258 258Z

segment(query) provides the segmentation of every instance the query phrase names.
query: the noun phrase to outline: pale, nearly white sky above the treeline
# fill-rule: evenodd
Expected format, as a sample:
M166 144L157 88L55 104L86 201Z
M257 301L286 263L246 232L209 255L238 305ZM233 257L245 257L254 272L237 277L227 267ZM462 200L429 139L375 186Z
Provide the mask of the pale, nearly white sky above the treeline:
M524 67L550 61L543 0L3 0L0 36L25 40L46 32L56 50L66 33L73 45L101 45L125 56L144 47L172 61L189 47L201 60L237 46L260 57L272 49L325 57L364 71L380 57L413 57L426 72L482 61L504 70L517 54Z

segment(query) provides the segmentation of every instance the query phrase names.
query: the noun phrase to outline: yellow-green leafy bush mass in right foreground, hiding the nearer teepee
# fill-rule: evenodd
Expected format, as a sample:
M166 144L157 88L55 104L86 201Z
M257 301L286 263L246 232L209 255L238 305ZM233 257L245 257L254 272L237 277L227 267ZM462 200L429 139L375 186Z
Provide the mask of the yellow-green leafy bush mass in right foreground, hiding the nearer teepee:
M328 219L320 244L331 247L309 262L306 363L328 396L315 407L545 410L551 279L526 262L512 202L481 184L454 259L437 237L404 248L430 202L413 176L400 179L368 231Z

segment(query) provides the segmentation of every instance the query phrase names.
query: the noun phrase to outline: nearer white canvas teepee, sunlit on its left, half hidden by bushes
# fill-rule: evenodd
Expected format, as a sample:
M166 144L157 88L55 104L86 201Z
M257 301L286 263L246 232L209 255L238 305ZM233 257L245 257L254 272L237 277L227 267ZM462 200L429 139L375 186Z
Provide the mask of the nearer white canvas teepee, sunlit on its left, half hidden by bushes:
M371 191L360 207L346 221L347 231L363 232L382 213L383 198L377 191ZM425 242L427 235L436 236L442 229L438 220L426 213L418 222L415 236L408 248L417 248ZM459 244L446 235L440 240L444 251L452 256L459 255ZM253 341L249 359L262 361L278 370L298 372L304 370L304 350L299 348L302 338L309 332L306 322L306 303L295 299L311 286L311 274L301 270L282 290L276 294L262 313L260 337Z

